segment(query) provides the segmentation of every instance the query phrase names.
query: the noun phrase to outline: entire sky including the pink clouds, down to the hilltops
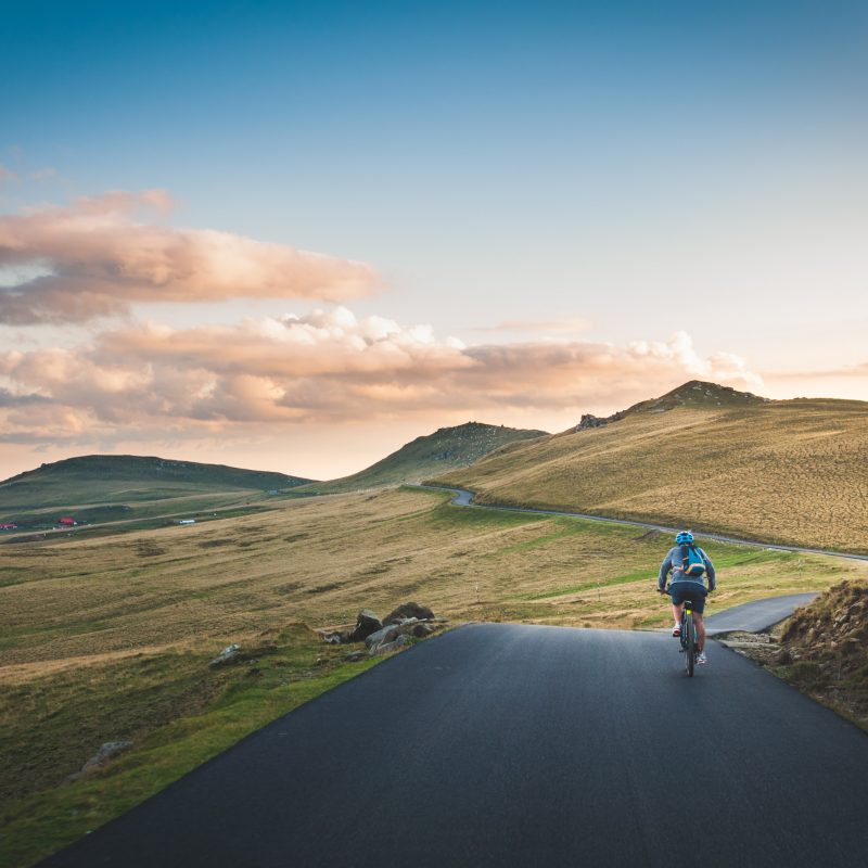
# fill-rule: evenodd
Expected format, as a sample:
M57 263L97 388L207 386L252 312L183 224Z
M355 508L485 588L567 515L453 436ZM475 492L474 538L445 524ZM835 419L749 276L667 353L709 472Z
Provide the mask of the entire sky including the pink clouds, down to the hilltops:
M865 3L2 13L0 477L868 399Z

